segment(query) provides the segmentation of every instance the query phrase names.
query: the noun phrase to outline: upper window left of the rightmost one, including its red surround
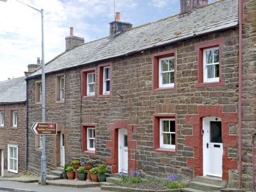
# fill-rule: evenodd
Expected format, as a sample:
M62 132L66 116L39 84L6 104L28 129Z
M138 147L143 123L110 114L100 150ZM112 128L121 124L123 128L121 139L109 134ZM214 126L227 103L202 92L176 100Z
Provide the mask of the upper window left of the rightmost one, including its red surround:
M153 91L173 90L176 87L176 54L166 51L154 54Z

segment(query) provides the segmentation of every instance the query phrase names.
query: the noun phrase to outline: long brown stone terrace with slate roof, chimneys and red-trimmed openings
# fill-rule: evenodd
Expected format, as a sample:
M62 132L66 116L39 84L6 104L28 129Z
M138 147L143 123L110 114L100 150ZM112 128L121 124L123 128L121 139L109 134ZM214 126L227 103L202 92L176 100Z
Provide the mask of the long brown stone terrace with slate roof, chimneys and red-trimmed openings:
M239 161L239 1L195 2L134 28L117 13L109 37L88 43L70 28L66 51L45 67L46 122L58 123L46 138L49 169L90 158L112 173L211 175L237 187L241 163L242 185L252 186L256 5L243 1ZM27 86L30 128L41 121L41 70ZM28 130L31 172L40 172L38 137Z

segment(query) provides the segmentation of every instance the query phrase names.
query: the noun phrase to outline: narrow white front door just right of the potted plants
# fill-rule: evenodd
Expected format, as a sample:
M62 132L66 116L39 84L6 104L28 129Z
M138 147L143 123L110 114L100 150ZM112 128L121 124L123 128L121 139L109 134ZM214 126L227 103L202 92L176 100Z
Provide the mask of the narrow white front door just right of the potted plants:
M118 172L128 172L127 129L118 130Z

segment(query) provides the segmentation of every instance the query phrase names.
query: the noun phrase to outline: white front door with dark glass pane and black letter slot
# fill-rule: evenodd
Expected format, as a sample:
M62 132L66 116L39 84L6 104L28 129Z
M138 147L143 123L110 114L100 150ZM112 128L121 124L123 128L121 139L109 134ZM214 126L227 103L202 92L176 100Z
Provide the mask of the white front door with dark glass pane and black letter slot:
M222 177L222 134L221 118L203 118L203 170L204 176Z

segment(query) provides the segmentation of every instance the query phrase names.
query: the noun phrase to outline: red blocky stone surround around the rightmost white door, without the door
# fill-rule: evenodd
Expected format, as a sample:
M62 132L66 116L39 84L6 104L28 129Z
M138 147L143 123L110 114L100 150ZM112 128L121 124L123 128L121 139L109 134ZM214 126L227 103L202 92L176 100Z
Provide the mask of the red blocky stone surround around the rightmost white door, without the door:
M222 105L198 105L198 115L186 115L186 124L193 125L193 136L186 136L186 146L194 147L194 157L187 158L187 166L194 167L196 176L203 176L203 128L206 116L221 117L223 156L222 180L228 181L228 170L237 169L237 160L228 157L228 146L237 146L237 136L229 135L229 123L237 122L237 113L223 113Z

